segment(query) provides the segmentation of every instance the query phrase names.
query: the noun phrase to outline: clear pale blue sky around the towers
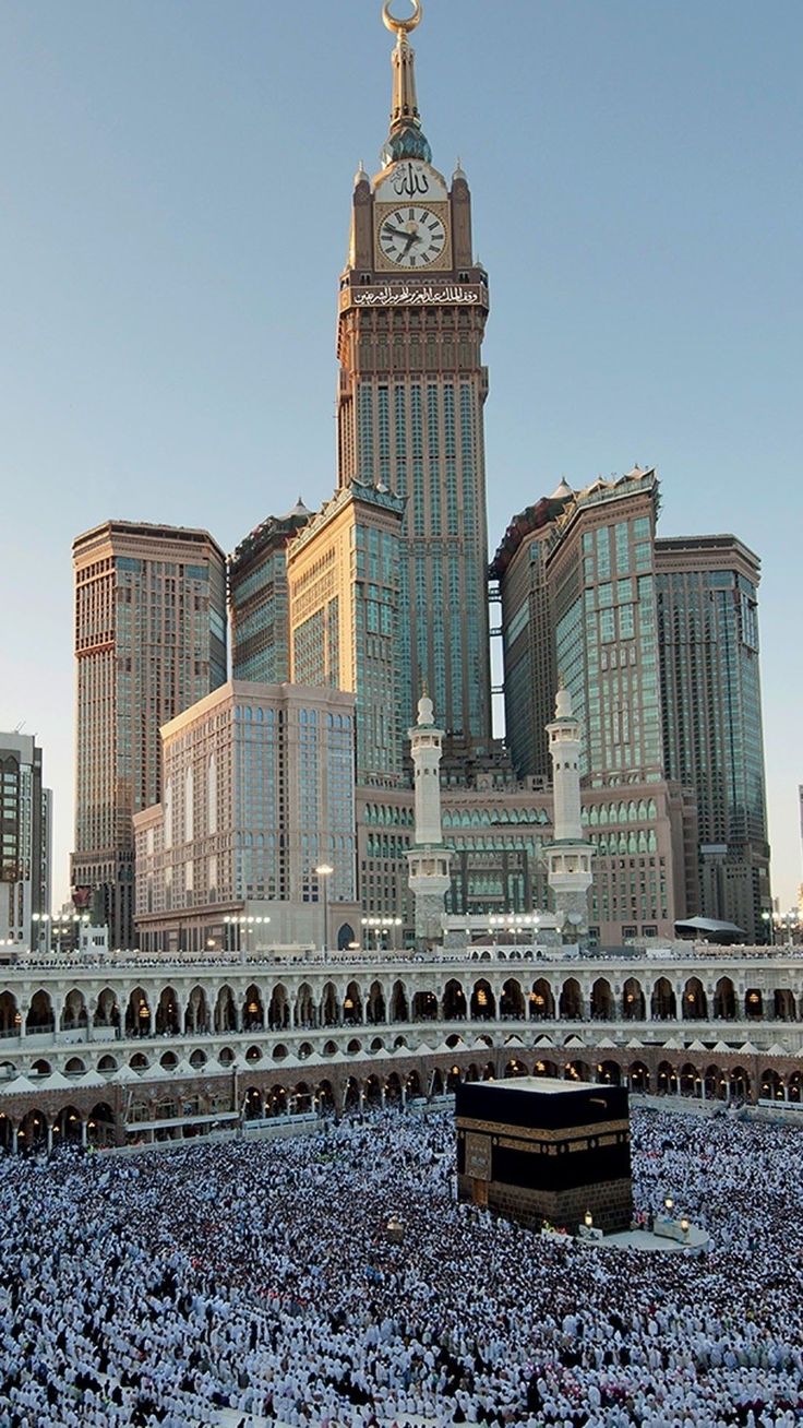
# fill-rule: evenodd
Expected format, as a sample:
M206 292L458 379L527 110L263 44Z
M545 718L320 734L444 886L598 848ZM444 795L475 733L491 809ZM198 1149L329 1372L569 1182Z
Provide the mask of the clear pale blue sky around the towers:
M405 0L395 0L398 14ZM379 0L6 0L0 728L73 798L73 536L231 548L334 484L351 180ZM773 891L800 880L800 0L425 0L418 90L491 276L492 548L561 476L655 464L660 534L763 560Z

